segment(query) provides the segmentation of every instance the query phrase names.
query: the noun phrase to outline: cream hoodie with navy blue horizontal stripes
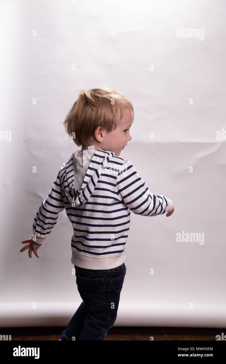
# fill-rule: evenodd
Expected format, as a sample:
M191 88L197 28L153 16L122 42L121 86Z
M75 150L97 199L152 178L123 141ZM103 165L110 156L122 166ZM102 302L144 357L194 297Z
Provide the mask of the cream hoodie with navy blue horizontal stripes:
M151 217L172 208L169 198L149 191L130 161L89 146L61 166L34 218L33 240L43 244L65 209L74 230L71 263L112 269L126 258L130 211Z

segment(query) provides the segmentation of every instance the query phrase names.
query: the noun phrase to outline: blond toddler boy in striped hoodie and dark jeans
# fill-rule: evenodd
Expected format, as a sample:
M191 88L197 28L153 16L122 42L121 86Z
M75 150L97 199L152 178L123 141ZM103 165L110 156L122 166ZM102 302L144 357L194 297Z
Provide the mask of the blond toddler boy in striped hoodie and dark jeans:
M111 88L82 90L63 122L81 150L61 166L33 222L33 240L21 249L39 257L66 210L73 226L71 262L82 303L60 340L104 340L116 320L126 266L130 211L157 216L173 211L173 202L154 195L132 163L119 157L131 140L133 106Z

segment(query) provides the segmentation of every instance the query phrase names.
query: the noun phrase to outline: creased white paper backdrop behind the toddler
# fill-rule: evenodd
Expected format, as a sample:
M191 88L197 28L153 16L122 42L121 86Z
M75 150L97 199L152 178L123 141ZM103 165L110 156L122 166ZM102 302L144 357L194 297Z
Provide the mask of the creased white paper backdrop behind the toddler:
M40 258L20 249L93 87L132 102L120 156L175 209L131 212L115 326L226 327L225 16L223 0L1 1L0 327L66 327L81 303L65 211Z

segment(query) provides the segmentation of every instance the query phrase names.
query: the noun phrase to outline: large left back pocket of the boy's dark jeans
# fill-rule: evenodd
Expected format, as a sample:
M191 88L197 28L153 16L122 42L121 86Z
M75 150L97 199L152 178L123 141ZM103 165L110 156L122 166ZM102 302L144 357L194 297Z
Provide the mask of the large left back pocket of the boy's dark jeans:
M76 275L78 292L90 311L94 311L106 303L104 278L83 278Z

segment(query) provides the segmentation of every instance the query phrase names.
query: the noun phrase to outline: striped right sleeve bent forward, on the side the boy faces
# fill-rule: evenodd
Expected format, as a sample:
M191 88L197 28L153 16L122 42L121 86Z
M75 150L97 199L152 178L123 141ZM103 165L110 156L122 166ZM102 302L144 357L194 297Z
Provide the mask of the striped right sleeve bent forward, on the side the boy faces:
M173 202L169 198L149 191L130 161L123 163L117 175L116 189L119 197L134 214L157 216L173 208Z

